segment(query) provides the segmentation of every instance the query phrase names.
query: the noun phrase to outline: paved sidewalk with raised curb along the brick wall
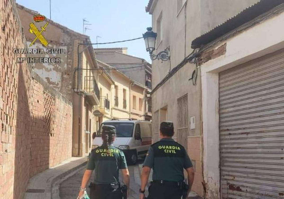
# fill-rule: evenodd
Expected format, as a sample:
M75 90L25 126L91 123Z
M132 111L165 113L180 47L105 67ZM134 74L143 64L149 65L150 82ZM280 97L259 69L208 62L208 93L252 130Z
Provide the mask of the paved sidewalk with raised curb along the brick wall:
M87 163L87 157L72 157L56 167L33 176L24 199L51 199L53 183Z

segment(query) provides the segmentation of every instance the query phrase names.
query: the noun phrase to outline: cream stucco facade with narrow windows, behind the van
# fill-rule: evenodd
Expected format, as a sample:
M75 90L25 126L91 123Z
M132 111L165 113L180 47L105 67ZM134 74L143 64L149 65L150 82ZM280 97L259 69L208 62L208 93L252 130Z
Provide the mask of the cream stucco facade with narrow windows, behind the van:
M110 99L110 112L111 119L145 119L145 93L147 88L135 80L132 80L122 72L114 67L98 61L99 65L108 74L108 83L106 79L99 77L99 87L102 92L108 95ZM101 75L100 75L101 76ZM112 84L110 84L110 81ZM136 109L133 109L133 96L136 98ZM140 103L139 103L140 100ZM140 107L139 107L140 104ZM104 118L106 115L104 115ZM99 124L105 121L100 119Z

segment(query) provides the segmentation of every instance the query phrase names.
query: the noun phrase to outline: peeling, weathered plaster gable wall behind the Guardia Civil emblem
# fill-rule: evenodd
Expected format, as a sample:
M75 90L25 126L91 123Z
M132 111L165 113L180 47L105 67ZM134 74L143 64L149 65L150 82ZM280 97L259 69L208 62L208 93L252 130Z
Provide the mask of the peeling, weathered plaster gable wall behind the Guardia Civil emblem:
M29 48L43 48L46 49L39 40L36 40L35 44L31 47L30 43L34 40L34 34L29 32L29 24L34 22L33 16L36 13L28 11L24 7L17 6L18 13L21 18L23 32L27 38L27 44ZM44 26L47 21L43 22L34 22L38 29L40 26ZM31 54L31 57L59 57L61 63L59 64L33 64L35 71L47 81L55 90L62 93L68 100L72 101L72 76L73 76L73 51L76 50L73 48L73 43L75 40L82 36L63 28L63 26L57 26L53 24L54 22L49 22L46 27L46 31L42 32L42 35L49 42L47 48L62 48L64 53L62 54Z

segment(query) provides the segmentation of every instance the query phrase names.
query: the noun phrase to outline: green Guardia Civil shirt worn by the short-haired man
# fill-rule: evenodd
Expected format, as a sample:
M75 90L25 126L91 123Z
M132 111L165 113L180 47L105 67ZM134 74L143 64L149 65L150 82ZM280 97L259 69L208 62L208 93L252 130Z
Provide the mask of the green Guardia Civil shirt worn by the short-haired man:
M152 144L143 166L153 168L153 180L183 181L183 168L192 167L185 148L170 138Z

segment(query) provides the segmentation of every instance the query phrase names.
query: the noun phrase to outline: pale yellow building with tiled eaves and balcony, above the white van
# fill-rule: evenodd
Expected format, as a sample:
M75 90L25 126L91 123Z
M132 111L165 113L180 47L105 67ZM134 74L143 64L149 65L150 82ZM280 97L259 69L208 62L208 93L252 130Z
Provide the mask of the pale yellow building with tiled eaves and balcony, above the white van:
M95 106L97 126L108 119L145 120L147 88L114 67L98 61L100 102Z

